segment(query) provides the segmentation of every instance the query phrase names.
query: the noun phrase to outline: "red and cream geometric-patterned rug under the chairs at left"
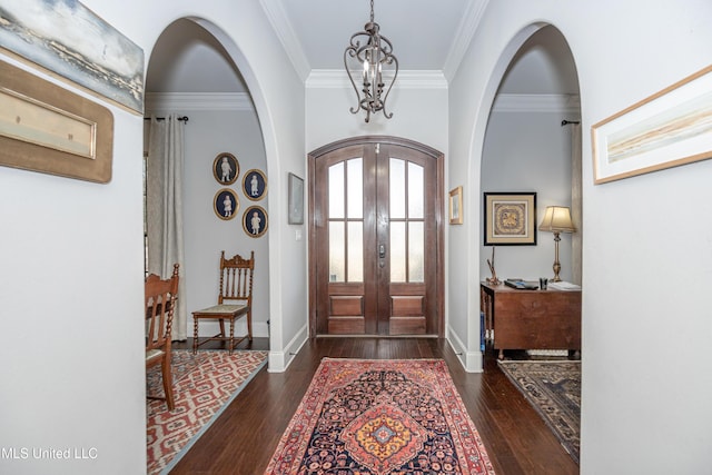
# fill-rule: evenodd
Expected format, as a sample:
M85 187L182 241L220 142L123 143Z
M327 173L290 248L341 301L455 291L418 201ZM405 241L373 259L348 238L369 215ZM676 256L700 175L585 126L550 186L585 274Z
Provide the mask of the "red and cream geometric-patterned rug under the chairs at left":
M174 350L176 407L146 399L147 474L168 473L266 364L267 352ZM164 396L160 365L148 369L146 394Z

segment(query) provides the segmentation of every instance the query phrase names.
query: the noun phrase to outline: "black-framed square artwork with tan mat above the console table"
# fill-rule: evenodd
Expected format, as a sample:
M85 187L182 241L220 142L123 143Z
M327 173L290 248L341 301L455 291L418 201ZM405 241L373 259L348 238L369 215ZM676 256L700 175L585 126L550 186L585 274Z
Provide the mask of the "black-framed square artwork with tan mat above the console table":
M535 246L536 194L485 192L484 245Z

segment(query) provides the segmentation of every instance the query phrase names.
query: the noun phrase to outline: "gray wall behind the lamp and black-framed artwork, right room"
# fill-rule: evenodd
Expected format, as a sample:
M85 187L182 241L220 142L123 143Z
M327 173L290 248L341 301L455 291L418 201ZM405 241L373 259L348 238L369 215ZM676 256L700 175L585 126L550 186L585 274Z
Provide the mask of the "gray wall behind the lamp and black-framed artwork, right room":
M493 112L482 152L482 192L536 192L538 227L547 206L571 206L571 130L561 126L566 112ZM482 207L482 194L468 206ZM553 277L554 235L537 232L535 246L496 246L497 277L537 280ZM484 243L484 220L479 243ZM479 248L479 275L490 277L492 246ZM562 234L560 276L571 281L571 235Z

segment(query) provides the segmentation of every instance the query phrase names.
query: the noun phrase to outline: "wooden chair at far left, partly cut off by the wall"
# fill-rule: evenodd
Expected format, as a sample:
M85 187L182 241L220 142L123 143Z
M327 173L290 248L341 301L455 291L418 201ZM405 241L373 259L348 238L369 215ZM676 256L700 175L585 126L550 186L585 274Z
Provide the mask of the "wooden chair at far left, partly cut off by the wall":
M146 278L146 368L161 365L164 393L168 410L175 407L174 384L170 372L170 329L178 298L178 267L169 279L156 274Z

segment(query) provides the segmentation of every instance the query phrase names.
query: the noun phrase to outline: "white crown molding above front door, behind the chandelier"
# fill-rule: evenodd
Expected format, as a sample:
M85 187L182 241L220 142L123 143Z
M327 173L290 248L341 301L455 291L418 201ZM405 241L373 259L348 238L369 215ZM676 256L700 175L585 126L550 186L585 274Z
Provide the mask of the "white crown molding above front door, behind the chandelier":
M356 72L358 75L359 72ZM384 78L393 78L392 71ZM307 89L352 88L352 82L343 69L315 69L305 81ZM398 71L394 89L447 89L447 80L442 71Z

